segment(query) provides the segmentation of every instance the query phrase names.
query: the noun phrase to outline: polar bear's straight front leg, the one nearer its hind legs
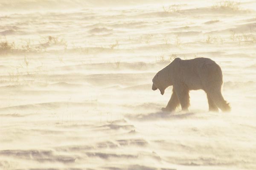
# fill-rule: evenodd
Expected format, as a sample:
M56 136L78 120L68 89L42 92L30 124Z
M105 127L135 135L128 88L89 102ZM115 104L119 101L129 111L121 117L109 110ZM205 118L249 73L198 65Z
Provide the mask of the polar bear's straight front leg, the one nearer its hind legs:
M189 89L183 83L173 86L177 98L180 101L182 111L189 111Z

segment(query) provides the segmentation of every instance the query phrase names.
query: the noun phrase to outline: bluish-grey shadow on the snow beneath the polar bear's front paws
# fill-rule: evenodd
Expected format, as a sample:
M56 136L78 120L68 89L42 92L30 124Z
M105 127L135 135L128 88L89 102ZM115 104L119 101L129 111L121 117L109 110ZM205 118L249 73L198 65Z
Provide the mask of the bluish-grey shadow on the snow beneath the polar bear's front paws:
M165 112L165 111L159 111L156 113L148 113L148 114L137 114L137 115L126 115L128 119L134 119L139 121L151 121L151 120L166 120L166 119L186 119L190 116L195 115L194 112Z

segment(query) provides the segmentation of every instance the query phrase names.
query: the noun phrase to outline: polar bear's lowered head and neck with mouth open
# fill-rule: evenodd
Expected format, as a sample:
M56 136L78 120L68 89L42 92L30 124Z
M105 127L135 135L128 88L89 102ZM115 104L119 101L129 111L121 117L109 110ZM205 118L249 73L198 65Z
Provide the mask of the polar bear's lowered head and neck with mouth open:
M169 65L167 65L162 70L158 71L158 73L152 79L153 85L152 90L155 91L157 89L160 90L160 93L163 95L164 91L170 85L173 85L173 75L176 73L177 68L179 67L180 58L174 59Z

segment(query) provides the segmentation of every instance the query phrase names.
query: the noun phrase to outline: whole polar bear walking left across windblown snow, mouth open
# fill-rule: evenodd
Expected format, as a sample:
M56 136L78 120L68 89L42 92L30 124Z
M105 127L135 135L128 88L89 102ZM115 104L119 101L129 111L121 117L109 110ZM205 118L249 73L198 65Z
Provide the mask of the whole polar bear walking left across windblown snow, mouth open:
M175 111L179 105L183 111L188 111L189 91L199 89L207 94L209 111L218 111L218 108L224 112L231 110L221 94L221 68L209 58L175 58L154 76L152 82L152 90L159 89L162 95L167 87L173 86L171 99L163 111Z

